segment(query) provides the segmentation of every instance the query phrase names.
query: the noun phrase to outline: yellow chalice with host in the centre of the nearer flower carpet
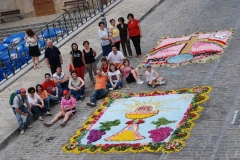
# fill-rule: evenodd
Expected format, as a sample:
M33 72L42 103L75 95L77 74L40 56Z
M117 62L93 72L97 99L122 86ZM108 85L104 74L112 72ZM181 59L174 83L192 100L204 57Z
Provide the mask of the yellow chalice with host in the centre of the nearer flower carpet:
M131 121L126 122L127 127L120 132L105 138L106 141L136 141L145 137L138 133L139 124L144 123L143 119L157 115L159 110L154 110L152 105L141 105L131 112L125 114Z

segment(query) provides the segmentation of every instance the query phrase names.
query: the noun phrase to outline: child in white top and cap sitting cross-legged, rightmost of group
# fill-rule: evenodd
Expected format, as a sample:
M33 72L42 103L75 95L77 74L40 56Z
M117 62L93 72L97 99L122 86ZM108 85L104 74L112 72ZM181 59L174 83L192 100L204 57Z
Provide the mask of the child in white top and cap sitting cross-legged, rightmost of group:
M150 64L147 64L146 68L147 70L145 72L145 76L147 79L147 84L149 86L152 86L154 88L155 86L165 84L165 82L163 81L163 77L160 77L159 74L152 69Z

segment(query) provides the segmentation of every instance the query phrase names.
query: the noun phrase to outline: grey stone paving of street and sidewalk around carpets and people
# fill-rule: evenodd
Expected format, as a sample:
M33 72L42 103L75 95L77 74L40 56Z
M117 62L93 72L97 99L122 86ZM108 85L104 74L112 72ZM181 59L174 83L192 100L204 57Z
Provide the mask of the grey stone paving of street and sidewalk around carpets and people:
M157 1L145 2L144 0L138 0L137 2L138 5L134 4L136 0L123 0L106 14L107 19L109 20L110 17L118 18L120 15L126 15L128 12L132 12L136 15L136 18L139 18L141 14L144 13L143 10L147 10L148 7L150 8L151 5L149 3L154 4ZM147 4L148 7L146 7ZM60 122L50 128L45 128L41 122L36 121L33 123L32 129L27 130L23 136L17 136L8 146L0 151L0 159L240 159L240 127L230 124L234 110L240 109L240 75L238 74L240 69L240 46L238 45L238 40L240 39L239 17L240 6L238 0L168 0L163 1L141 22L143 29L142 50L144 54L150 51L156 44L156 41L162 36L181 36L196 31L213 32L215 30L227 30L229 28L235 29L233 38L219 61L206 64L192 64L176 68L157 69L167 81L165 86L158 88L160 90L193 87L196 85L209 85L213 88L209 101L203 105L204 110L201 112L201 117L194 122L196 125L191 131L190 137L185 140L186 146L179 153L168 155L161 153L107 155L74 155L63 153L61 147L69 142L69 138L75 133L77 128L81 127L82 122L94 111L94 109L85 105L91 94L91 90L88 88L86 91L86 100L78 103L79 107L77 114L71 118L65 128L59 126ZM88 39L93 48L96 48L98 51L100 50L98 37L95 35L97 30L96 24L97 22L93 23L91 27L86 28L73 38L73 40L60 48L65 59L65 72L68 64L67 53L72 41L79 42L79 46L81 46L81 42L84 39ZM134 66L137 66L140 62L141 60L139 59L131 59L131 63ZM42 65L44 65L44 63L42 63ZM42 75L45 73L46 68L43 67L37 71L38 72L31 70L28 74L22 76L19 80L1 92L0 97L3 101L2 104L7 104L8 95L14 88L18 88L19 86L35 86L37 82L42 82ZM29 77L33 80L29 81ZM124 88L121 89L121 92L130 92L133 88L134 92L152 90L152 88L146 85L124 84ZM15 123L14 116L10 108L5 109L7 107L4 106L4 108L2 104L0 117L4 118L3 120L0 119L0 122L12 125ZM58 111L57 108L58 106L54 107L54 113ZM50 118L48 117L45 119L49 120ZM0 126L1 132L2 126L4 125L1 124ZM50 136L54 137L54 139L47 141L46 139Z

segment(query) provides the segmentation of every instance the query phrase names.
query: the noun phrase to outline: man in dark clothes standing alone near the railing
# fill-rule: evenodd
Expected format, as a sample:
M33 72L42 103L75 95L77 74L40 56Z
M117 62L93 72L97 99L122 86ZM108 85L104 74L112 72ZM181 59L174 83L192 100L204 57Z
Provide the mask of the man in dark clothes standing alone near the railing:
M48 48L45 50L45 61L47 66L51 69L52 74L56 72L58 66L61 67L62 55L57 47L53 46L52 40L47 41Z

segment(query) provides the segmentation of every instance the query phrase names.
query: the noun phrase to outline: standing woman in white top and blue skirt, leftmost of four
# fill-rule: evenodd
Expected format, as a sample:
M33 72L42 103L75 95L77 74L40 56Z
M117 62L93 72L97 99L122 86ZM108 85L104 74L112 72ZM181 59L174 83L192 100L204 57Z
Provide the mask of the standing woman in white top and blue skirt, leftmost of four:
M104 28L104 23L99 22L98 23L99 30L98 30L98 36L100 38L101 46L102 46L102 56L107 57L108 54L112 51L111 46L111 39L108 36L108 31L106 28Z

